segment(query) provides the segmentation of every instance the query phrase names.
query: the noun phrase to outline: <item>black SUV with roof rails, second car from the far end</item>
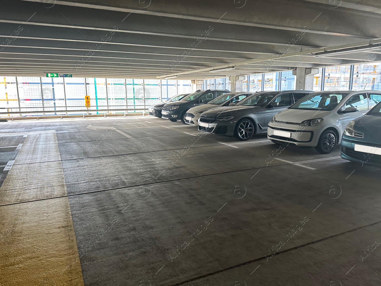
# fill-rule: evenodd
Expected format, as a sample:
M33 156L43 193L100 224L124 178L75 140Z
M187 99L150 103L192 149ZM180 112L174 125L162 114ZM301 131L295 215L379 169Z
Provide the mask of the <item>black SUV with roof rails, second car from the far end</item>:
M162 109L162 118L169 119L170 121L177 121L180 119L185 124L185 114L189 108L205 104L217 96L229 93L229 90L200 90L190 95L185 96L179 101L166 103Z

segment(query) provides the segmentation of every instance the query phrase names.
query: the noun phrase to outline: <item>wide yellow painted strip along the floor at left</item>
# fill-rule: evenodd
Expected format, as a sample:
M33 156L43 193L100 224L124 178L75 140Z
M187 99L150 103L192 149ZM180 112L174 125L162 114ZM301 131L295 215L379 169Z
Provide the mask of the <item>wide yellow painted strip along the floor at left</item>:
M26 137L0 204L67 194L56 143L52 131ZM34 163L46 160L58 162ZM68 198L0 207L0 285L83 286Z

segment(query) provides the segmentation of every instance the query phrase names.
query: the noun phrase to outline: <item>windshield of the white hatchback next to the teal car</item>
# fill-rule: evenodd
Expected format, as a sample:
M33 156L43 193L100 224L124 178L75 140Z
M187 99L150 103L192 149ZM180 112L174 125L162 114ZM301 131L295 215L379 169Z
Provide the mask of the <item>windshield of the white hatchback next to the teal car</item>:
M296 101L289 108L329 111L333 110L348 94L341 92L314 92Z

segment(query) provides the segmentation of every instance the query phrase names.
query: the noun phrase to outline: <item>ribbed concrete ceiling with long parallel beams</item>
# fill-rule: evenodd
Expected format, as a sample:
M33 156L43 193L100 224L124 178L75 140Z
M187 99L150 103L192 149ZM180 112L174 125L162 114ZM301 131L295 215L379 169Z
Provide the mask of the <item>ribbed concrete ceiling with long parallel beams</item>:
M376 0L3 0L0 26L9 76L208 79L381 61Z

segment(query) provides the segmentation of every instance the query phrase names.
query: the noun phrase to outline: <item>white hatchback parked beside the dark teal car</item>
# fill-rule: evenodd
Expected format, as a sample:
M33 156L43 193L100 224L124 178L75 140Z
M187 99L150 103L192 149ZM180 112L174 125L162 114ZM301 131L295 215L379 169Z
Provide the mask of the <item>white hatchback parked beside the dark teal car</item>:
M267 127L274 143L314 146L331 153L345 127L378 103L378 90L314 92L275 114Z

